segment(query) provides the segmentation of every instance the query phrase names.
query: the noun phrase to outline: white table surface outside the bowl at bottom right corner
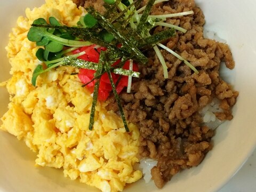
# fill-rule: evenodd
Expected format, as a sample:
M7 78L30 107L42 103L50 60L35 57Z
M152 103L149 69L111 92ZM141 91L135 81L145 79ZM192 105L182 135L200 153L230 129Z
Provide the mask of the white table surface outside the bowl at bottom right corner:
M218 192L256 192L256 150L234 177Z

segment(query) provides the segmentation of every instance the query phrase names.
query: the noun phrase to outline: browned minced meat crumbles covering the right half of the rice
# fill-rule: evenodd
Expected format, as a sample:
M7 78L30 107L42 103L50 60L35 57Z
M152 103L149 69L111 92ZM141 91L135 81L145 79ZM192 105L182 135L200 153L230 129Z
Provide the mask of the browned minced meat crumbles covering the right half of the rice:
M102 1L85 1L103 12ZM146 0L142 5L146 4ZM126 118L137 124L141 134L140 155L158 160L151 170L158 188L162 188L174 174L197 166L212 149L213 131L203 125L198 111L218 98L221 119L232 119L231 107L238 92L219 76L221 61L229 69L234 61L228 45L203 37L204 15L194 0L172 0L153 7L151 14L169 14L193 10L193 15L167 19L166 22L187 29L166 42L197 68L195 74L182 61L161 50L168 67L169 78L164 79L162 65L153 50L148 51L148 65L140 65L140 78L133 78L131 93L121 93ZM153 33L165 30L156 27ZM118 111L115 99L109 98L109 109Z

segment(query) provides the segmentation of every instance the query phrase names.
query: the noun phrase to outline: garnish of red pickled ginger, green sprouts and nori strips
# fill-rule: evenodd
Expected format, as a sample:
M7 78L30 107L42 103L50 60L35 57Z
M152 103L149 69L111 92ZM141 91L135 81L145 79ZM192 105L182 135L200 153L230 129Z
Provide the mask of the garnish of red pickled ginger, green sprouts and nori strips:
M172 53L198 73L188 61L161 44L173 37L175 30L186 33L186 29L165 23L166 18L182 17L193 14L193 11L150 15L153 5L163 1L166 0L149 0L146 6L141 7L141 0L105 0L107 11L103 15L89 7L73 27L62 26L54 17L49 18L49 23L43 18L35 20L27 37L41 46L36 57L43 64L35 68L32 84L36 86L40 74L58 66L77 67L83 86L93 92L89 129L93 128L97 100L106 100L113 91L125 130L129 132L118 94L124 87L130 92L132 77L140 74L138 65L147 65L148 58L143 52L154 49L162 64L164 78L168 78L168 71L158 47ZM167 29L150 34L156 26Z

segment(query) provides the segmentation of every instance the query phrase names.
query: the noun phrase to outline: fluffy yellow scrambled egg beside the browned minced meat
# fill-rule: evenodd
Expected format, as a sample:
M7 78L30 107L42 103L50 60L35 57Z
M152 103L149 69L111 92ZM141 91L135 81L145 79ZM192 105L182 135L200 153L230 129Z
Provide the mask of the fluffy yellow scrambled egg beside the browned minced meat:
M137 158L139 131L129 124L125 132L122 119L99 103L93 130L88 130L92 95L86 91L73 67L59 67L38 77L31 85L33 70L41 62L37 47L27 33L37 18L53 16L68 26L76 25L85 13L70 0L46 0L27 17L19 17L6 47L12 77L2 83L10 93L9 110L2 117L7 131L36 153L36 165L63 167L65 177L79 179L102 191L122 191L126 183L142 177L133 168Z

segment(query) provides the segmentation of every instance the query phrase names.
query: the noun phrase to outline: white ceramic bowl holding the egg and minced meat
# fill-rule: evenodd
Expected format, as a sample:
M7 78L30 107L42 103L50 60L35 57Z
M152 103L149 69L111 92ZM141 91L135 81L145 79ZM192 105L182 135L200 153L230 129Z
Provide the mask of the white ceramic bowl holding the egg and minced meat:
M256 144L256 1L196 0L203 9L207 30L216 31L231 47L236 67L223 71L225 79L240 92L234 107L234 119L222 124L214 136L214 148L193 169L175 175L162 189L143 180L129 185L125 191L217 191L242 166ZM25 8L41 5L43 0L8 0L0 2L0 81L10 77L4 47L7 36ZM9 95L0 87L0 115L7 110ZM34 167L36 155L23 142L0 132L0 191L96 191L78 181L63 177L61 170Z

